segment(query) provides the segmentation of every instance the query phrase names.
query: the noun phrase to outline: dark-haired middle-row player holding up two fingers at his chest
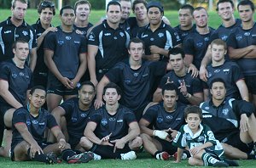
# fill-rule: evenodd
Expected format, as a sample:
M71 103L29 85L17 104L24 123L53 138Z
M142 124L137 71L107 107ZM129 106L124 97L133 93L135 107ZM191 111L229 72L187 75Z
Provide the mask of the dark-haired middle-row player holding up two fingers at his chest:
M184 52L181 48L172 48L169 52L172 70L162 77L159 87L154 92L153 102L162 101L162 88L166 82L173 82L179 89L177 101L183 104L201 104L203 89L201 81L192 77L184 64Z

